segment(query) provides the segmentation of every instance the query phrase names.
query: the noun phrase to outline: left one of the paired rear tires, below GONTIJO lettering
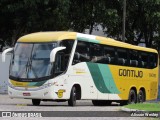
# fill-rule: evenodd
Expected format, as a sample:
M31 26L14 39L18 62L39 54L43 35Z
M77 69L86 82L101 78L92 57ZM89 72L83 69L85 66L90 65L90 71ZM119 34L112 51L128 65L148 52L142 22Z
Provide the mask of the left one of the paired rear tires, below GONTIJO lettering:
M137 96L135 90L131 89L129 92L128 104L137 103Z

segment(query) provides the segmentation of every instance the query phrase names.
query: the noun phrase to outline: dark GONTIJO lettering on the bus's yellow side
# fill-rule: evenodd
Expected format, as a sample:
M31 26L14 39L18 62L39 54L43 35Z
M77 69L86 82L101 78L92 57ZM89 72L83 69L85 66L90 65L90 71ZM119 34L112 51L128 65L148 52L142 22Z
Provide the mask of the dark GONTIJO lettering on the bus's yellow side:
M143 71L140 70L129 70L129 69L119 69L119 76L126 76L126 77L136 77L142 78Z

